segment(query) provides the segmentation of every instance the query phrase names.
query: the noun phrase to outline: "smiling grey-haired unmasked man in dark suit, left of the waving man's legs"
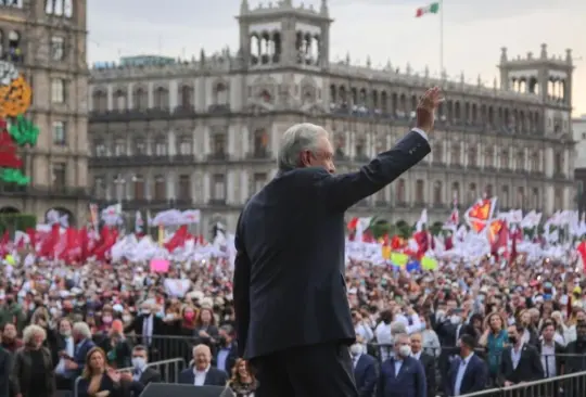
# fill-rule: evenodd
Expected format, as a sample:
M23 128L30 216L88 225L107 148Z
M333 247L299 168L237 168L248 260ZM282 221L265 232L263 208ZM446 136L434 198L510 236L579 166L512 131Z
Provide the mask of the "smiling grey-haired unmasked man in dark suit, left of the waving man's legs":
M207 345L193 348L193 367L181 371L179 383L195 386L226 386L228 374L212 367L212 351Z

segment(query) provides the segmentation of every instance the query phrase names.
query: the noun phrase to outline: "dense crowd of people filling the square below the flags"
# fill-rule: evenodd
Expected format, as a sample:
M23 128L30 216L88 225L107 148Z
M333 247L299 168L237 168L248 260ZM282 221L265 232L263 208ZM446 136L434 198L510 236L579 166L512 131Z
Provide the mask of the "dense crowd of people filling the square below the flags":
M3 271L0 397L138 396L161 381L254 394L254 371L238 357L227 260L174 262L154 273L125 261L35 259ZM407 271L349 260L346 284L360 396L405 387L402 376L411 374L394 373L397 359L421 363L411 366L415 397L586 371L585 285L582 270L563 262L521 256ZM476 370L460 375L471 353ZM175 358L180 368L149 364Z

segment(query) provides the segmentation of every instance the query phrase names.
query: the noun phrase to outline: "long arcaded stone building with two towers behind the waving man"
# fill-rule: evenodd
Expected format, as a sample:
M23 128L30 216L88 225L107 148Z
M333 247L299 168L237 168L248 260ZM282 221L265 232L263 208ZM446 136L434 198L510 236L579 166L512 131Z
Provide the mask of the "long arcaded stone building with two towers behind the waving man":
M391 148L413 121L418 98L437 85L430 154L348 216L413 222L423 208L443 221L454 197L463 208L483 194L500 209L547 214L573 206L572 56L512 59L501 50L500 85L484 87L392 65L331 62L320 10L242 2L240 48L189 61L104 65L91 71L90 178L101 204L129 213L202 210L202 231L233 229L245 202L276 174L284 130L326 126L336 166L355 170Z

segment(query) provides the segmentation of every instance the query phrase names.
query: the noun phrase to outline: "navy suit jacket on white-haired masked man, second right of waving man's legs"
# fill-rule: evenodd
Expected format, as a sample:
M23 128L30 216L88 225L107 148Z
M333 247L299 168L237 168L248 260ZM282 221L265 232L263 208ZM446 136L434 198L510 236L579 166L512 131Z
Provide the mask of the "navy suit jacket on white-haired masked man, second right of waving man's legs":
M395 376L395 359L390 358L381 366L378 397L426 397L428 383L423 366L413 357L407 357Z

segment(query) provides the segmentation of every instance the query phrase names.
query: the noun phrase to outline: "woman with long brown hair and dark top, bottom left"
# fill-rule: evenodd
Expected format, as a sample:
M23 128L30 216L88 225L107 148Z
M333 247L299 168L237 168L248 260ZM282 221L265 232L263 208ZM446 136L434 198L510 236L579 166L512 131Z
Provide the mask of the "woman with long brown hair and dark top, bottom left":
M107 367L104 350L91 348L86 356L86 366L77 385L78 397L124 397L122 375Z

